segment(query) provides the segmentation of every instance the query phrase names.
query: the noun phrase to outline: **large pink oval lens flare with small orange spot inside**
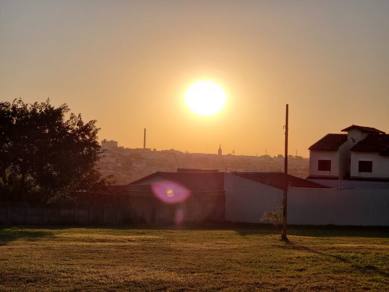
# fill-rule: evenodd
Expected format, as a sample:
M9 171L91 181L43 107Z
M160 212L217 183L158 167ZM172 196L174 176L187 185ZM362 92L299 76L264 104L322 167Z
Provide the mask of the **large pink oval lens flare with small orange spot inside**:
M190 191L171 180L160 180L151 185L155 197L168 204L176 204L185 201L190 196Z

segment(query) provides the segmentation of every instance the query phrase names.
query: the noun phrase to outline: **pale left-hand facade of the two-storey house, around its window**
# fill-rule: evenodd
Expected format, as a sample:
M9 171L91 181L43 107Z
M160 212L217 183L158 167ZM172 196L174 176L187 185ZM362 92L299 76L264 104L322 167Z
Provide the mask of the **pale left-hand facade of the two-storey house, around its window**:
M331 171L319 171L318 160L331 160ZM339 176L339 152L331 150L310 150L309 175Z

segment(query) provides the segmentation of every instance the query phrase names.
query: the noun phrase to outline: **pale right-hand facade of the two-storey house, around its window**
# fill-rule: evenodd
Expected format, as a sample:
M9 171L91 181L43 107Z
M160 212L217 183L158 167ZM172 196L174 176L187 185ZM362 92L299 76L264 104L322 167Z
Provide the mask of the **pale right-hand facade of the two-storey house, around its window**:
M373 162L372 172L358 172L359 161ZM351 176L361 178L389 178L389 157L377 152L351 152Z

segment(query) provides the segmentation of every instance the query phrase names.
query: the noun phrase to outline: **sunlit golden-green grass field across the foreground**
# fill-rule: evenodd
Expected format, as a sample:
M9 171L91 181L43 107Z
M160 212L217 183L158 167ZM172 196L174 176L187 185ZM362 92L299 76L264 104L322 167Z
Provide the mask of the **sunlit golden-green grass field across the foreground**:
M0 291L388 291L389 231L0 229Z

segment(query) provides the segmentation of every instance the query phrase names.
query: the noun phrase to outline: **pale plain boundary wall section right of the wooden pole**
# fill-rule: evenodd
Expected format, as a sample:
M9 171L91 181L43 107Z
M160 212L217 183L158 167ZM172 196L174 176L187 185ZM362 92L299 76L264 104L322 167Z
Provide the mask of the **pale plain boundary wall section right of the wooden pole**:
M389 189L291 188L288 224L389 226Z

